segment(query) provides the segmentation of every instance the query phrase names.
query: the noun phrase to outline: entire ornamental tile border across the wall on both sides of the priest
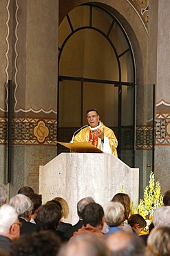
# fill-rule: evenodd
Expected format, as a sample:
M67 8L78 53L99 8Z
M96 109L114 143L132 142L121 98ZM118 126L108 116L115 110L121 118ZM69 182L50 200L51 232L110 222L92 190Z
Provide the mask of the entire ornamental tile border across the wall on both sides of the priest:
M12 119L12 144L56 145L56 120L38 118ZM125 127L125 145L131 148L131 131ZM124 133L125 131L123 131ZM0 144L8 143L8 118L0 118ZM123 144L124 145L124 144ZM170 113L156 113L156 145L170 146ZM127 148L127 146L126 146ZM136 149L152 149L152 127L136 127Z

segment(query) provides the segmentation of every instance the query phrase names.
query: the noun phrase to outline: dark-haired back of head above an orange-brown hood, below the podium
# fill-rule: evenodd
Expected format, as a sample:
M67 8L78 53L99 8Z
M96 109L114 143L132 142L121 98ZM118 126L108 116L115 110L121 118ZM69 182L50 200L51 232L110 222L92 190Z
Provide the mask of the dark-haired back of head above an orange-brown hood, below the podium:
M98 203L88 203L82 212L84 226L90 224L91 226L97 228L100 226L103 217L103 208Z

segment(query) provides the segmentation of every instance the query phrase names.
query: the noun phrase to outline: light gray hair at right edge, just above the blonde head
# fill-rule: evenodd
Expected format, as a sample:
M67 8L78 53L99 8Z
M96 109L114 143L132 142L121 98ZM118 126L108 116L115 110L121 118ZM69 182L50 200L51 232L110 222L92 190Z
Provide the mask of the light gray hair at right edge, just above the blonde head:
M155 227L170 227L170 206L161 206L153 212L153 224Z

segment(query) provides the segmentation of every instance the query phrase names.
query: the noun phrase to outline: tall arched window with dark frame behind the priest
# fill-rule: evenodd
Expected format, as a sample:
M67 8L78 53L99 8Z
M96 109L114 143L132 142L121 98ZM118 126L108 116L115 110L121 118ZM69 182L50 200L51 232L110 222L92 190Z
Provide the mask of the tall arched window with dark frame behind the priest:
M74 8L59 26L59 141L68 142L95 107L118 138L118 156L134 167L135 67L131 45L110 12ZM63 148L59 147L63 152Z

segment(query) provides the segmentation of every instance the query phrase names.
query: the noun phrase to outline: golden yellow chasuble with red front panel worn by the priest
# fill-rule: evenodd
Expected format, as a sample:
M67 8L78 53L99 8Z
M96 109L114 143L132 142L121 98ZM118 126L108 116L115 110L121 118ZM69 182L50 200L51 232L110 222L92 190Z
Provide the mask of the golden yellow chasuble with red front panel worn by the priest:
M103 122L101 122L100 127L98 127L98 129L103 129L103 128L105 128L104 143L105 143L105 137L107 137L109 139L109 147L111 149L111 154L118 157L117 150L116 150L116 147L118 146L118 140L114 134L114 131L112 131L105 125L103 125ZM76 134L76 136L74 137L73 143L82 143L84 141L87 141L88 143L91 143L98 149L102 150L101 139L94 134L94 131L92 131L90 127L85 127L81 129L81 131L79 131L78 134Z

